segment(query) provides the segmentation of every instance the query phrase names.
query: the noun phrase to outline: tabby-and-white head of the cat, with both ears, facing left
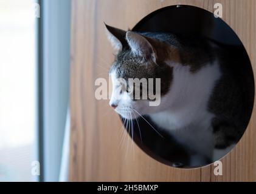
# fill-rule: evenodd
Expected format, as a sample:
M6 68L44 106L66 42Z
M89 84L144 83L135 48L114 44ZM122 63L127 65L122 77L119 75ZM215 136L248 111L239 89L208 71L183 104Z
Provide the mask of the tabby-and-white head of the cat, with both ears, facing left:
M171 85L172 69L165 64L170 48L141 33L109 25L106 29L117 52L109 70L112 80L109 105L126 119L158 112L162 107L161 96Z

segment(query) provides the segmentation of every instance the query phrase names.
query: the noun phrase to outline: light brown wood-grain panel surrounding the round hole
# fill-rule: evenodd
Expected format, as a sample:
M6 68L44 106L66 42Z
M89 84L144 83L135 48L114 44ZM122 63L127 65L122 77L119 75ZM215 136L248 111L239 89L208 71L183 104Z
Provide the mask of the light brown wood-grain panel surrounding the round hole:
M71 26L70 181L256 181L256 112L232 152L225 156L223 176L210 165L175 169L154 160L125 135L108 101L94 96L95 79L108 79L112 48L103 22L133 28L142 18L170 5L194 5L213 12L223 4L223 20L237 33L256 69L256 1L247 0L73 0ZM178 18L173 18L178 19ZM128 150L126 150L128 142Z

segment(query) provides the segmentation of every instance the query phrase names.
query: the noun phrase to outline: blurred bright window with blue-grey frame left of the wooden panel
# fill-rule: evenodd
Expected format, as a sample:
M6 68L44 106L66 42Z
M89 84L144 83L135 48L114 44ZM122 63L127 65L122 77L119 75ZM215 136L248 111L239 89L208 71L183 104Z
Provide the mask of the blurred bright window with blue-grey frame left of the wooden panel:
M0 0L0 181L67 181L69 0Z

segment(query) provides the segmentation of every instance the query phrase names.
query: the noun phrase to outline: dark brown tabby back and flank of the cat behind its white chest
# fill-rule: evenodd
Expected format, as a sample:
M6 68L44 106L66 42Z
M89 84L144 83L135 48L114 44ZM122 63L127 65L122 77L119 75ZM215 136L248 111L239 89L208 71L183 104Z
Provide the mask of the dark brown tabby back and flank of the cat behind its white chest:
M190 65L192 73L218 62L221 76L215 83L208 102L216 147L237 142L249 122L254 103L254 77L247 53L242 45L226 45L210 39L171 33L142 33L179 49L182 65ZM202 83L203 84L203 83Z

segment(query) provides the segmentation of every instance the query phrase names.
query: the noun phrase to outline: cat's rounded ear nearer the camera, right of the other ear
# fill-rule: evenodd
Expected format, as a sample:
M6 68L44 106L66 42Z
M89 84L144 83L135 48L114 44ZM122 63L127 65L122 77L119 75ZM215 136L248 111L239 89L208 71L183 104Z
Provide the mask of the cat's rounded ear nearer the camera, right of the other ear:
M151 58L156 62L156 52L147 38L139 33L128 31L126 33L126 40L134 55Z

